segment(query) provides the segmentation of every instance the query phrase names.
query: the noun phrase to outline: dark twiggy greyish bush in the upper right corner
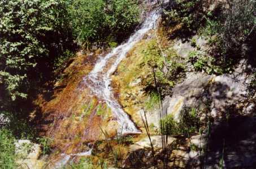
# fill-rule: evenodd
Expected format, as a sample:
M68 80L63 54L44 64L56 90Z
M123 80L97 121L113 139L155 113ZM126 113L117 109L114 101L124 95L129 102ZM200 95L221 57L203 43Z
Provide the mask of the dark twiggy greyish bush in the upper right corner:
M232 66L255 48L255 1L231 1L218 14L209 13L203 35L208 37L209 55L223 66Z

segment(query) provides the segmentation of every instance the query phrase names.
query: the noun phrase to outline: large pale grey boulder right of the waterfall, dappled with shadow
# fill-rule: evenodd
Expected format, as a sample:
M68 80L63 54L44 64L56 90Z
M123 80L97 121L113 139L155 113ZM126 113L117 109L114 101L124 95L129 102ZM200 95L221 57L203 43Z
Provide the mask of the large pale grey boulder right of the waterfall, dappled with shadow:
M212 117L221 118L230 107L248 114L254 106L253 103L248 103L248 83L248 77L244 74L215 76L189 73L183 83L173 88L172 97L166 97L166 113L172 114L175 121L179 122L184 106L196 108L202 102L207 102L210 104Z

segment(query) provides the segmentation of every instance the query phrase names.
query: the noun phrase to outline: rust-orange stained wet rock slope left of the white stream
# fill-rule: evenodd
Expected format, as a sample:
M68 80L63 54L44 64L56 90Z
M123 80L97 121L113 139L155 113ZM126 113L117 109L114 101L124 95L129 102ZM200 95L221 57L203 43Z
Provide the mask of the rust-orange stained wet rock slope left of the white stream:
M40 134L53 139L52 146L62 153L76 153L83 143L98 140L102 135L99 126L105 124L96 114L99 100L83 83L98 55L77 55L64 70L65 78L55 84L53 95L46 98L41 94L34 101L40 108ZM90 104L91 100L96 101ZM83 108L89 106L88 114L83 114Z

